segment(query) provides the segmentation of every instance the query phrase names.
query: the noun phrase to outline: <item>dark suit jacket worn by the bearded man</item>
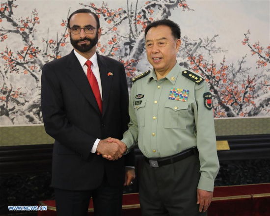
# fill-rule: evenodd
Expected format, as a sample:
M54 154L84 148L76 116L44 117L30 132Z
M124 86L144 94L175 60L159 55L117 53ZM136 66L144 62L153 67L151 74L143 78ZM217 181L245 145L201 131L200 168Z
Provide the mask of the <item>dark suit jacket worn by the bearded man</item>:
M52 186L96 189L106 172L111 186L124 183L132 157L108 161L91 153L96 138L121 139L127 130L128 87L124 65L97 54L103 96L101 115L95 96L74 51L43 66L41 108L46 132L54 137ZM108 76L111 72L113 75Z

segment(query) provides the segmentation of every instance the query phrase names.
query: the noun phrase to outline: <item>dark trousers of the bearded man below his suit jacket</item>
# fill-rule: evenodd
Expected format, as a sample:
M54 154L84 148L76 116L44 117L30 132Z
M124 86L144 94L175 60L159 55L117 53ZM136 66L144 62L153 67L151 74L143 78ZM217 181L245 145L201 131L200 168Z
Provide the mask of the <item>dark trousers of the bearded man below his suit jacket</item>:
M87 216L90 198L93 198L95 216L121 216L123 187L102 184L93 190L54 189L57 216Z

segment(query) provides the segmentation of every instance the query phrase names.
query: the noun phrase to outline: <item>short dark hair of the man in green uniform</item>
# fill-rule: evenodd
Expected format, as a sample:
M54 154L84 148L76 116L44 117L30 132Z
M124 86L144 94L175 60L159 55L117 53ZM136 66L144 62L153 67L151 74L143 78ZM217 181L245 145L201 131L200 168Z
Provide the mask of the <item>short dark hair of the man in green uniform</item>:
M181 29L180 29L180 27L178 26L178 24L174 23L171 20L167 20L167 19L165 19L165 20L158 20L158 21L155 21L153 23L150 23L145 28L144 37L146 37L146 34L147 34L147 32L149 31L149 29L151 27L158 27L158 26L167 26L167 27L170 27L171 32L172 32L172 36L175 39L180 39L180 37L181 37Z

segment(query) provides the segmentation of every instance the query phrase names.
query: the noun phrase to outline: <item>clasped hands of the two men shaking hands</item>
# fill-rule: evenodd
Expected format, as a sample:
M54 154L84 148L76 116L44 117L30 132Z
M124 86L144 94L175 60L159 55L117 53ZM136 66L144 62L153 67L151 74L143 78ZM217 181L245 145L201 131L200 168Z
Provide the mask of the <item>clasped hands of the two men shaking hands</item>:
M117 160L127 151L127 146L119 139L108 137L99 141L97 146L98 155L102 155L103 158L109 161Z

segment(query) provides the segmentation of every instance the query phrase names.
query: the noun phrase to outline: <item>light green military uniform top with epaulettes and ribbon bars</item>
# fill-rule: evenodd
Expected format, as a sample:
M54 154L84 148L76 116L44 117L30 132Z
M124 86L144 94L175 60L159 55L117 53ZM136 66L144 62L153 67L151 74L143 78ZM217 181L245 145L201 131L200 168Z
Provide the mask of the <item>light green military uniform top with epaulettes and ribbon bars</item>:
M219 163L207 82L178 63L159 81L154 69L145 73L132 86L131 120L122 141L128 151L138 143L147 158L171 156L197 146L198 189L213 191Z

